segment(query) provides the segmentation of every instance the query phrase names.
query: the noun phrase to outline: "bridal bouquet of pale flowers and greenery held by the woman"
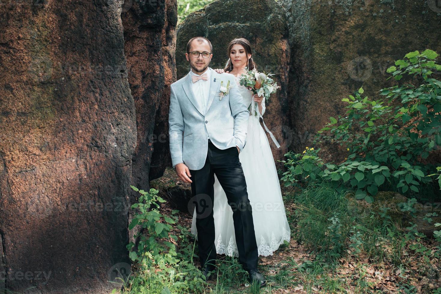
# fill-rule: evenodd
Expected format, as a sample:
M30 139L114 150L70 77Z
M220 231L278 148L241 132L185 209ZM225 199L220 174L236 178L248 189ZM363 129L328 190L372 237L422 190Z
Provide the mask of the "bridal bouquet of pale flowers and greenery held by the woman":
M245 71L246 74L240 76L240 85L247 87L248 90L259 97L263 96L265 100L268 100L269 96L280 88L277 82L271 78L274 74L259 73L256 69L248 71L248 67L245 67ZM250 110L250 107L248 107L248 110Z

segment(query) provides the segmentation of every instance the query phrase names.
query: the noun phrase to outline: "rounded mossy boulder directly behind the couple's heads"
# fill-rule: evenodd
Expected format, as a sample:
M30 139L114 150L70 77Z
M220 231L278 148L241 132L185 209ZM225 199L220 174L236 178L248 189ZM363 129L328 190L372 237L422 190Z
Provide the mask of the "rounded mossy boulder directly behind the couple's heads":
M275 74L275 80L282 88L266 103L263 118L281 145L277 149L268 135L274 159L281 159L291 138L287 126L291 107L287 96L290 49L284 9L274 0L217 0L191 13L178 27L178 79L190 70L185 59L186 46L188 40L197 36L208 38L213 45L212 68L223 68L228 59L229 42L243 37L251 43L258 70ZM280 166L278 162L277 165Z

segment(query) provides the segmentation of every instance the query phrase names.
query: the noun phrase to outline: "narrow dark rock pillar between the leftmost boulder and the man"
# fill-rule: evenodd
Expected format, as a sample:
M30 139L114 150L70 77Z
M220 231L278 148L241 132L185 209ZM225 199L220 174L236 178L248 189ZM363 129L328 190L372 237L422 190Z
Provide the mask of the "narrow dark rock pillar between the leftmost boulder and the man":
M171 165L168 105L170 84L176 81L176 5L176 0L127 1L121 14L138 129L131 184L145 191L149 191L149 180L162 176ZM132 191L131 204L138 196ZM131 210L129 221L137 213ZM137 241L138 232L139 227L130 232L131 241Z

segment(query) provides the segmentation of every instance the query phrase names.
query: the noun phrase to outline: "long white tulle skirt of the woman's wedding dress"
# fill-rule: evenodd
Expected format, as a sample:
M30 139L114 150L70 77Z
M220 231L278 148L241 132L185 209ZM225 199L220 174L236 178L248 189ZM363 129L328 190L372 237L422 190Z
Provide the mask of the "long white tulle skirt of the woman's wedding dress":
M277 169L265 131L259 118L250 116L247 141L239 154L247 182L248 198L253 209L254 232L258 255L273 255L284 240L291 237L288 220L280 191ZM215 225L215 246L218 254L238 256L233 212L227 196L214 176L213 217ZM191 232L196 235L196 211L193 214Z

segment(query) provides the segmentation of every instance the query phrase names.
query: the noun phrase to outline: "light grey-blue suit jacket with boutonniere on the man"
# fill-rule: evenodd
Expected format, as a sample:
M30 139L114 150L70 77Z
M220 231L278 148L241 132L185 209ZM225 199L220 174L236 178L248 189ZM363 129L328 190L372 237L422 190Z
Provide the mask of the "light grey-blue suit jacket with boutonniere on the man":
M245 147L249 112L232 74L218 74L212 68L207 111L198 104L191 90L190 72L170 86L168 135L173 168L183 162L189 169L202 169L208 152L207 134L219 149ZM221 100L221 81L230 81L230 91Z

